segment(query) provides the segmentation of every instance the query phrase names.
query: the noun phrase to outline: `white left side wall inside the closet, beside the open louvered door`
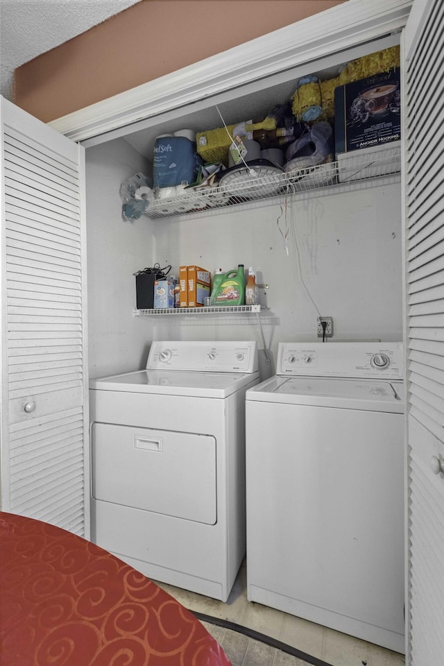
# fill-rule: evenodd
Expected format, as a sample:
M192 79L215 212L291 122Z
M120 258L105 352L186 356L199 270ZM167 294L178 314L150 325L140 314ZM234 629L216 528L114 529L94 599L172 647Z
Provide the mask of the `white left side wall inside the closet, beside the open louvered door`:
M151 265L151 223L121 216L121 182L148 171L123 139L86 151L89 377L142 367L151 340L149 322L133 317L133 273Z

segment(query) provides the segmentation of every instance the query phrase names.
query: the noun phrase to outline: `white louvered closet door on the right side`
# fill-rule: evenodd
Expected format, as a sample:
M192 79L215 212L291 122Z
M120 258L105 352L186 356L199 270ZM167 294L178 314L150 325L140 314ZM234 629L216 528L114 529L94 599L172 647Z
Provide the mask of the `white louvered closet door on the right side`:
M444 663L444 3L416 0L407 56L407 637Z

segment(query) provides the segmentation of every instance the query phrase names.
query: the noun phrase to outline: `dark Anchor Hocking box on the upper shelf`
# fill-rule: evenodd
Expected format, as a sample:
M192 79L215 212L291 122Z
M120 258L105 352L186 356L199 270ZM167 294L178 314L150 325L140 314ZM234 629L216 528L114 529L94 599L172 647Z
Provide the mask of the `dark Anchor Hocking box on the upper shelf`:
M400 68L334 90L336 154L400 141Z

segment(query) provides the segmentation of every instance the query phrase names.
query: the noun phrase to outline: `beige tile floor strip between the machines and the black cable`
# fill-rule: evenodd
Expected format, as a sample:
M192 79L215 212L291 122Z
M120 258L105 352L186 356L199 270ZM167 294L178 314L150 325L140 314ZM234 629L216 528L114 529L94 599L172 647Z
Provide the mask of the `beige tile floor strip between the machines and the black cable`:
M185 608L255 629L332 666L404 666L405 663L404 656L397 652L282 613L275 608L247 601L245 563L241 566L226 603L156 582ZM247 664L244 663L244 666Z

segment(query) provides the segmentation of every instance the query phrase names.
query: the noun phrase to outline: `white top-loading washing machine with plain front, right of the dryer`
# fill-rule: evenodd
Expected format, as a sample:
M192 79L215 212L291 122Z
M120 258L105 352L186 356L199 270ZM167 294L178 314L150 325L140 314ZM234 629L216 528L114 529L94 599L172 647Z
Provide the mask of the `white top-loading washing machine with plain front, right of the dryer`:
M281 343L246 393L247 597L404 652L398 343Z

